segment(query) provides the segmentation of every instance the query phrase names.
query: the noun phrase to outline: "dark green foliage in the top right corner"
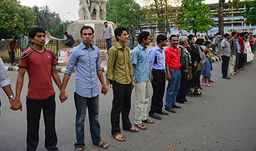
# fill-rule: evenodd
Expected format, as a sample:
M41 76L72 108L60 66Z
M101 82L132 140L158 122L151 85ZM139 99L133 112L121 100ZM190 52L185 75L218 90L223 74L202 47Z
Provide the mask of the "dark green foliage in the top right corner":
M246 23L256 25L256 1L247 1L244 4L246 5L246 11L244 11Z

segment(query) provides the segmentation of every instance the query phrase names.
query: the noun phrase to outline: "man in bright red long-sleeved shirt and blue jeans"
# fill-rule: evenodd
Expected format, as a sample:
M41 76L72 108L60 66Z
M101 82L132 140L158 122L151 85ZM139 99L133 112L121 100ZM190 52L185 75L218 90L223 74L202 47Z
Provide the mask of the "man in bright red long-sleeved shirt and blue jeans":
M166 63L166 79L168 86L166 89L165 110L176 113L173 108L181 108L177 106L176 97L180 90L180 55L179 55L179 39L176 35L170 36L171 45L164 50Z

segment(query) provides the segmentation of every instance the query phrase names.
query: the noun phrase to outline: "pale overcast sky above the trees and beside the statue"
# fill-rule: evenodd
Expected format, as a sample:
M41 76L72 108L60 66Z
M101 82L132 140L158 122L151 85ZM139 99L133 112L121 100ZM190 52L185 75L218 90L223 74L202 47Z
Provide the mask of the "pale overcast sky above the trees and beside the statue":
M137 3L143 6L142 1L143 0L136 0ZM218 0L205 0L205 3L218 3ZM60 13L61 20L63 20L63 14L68 12L71 13L65 15L65 20L77 20L79 18L77 13L79 0L20 0L20 4L29 7L47 5L52 12Z

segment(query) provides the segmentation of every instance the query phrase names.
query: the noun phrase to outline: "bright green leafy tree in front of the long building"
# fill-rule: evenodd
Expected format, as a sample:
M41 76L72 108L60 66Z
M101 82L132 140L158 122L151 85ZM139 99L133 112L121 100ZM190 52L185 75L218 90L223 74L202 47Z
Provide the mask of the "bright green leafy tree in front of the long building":
M186 31L196 32L209 31L214 26L212 12L203 0L182 0L180 26Z

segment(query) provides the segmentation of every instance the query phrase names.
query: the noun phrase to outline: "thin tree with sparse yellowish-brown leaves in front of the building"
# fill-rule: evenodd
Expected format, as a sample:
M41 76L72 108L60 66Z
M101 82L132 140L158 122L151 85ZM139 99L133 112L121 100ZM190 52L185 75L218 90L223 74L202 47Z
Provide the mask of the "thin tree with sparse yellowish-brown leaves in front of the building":
M150 23L156 22L159 31L163 32L164 35L167 35L167 32L169 31L170 22L175 22L175 20L177 19L177 11L170 5L171 1L152 0L145 1L145 3L148 3L148 5L146 6L147 21Z

